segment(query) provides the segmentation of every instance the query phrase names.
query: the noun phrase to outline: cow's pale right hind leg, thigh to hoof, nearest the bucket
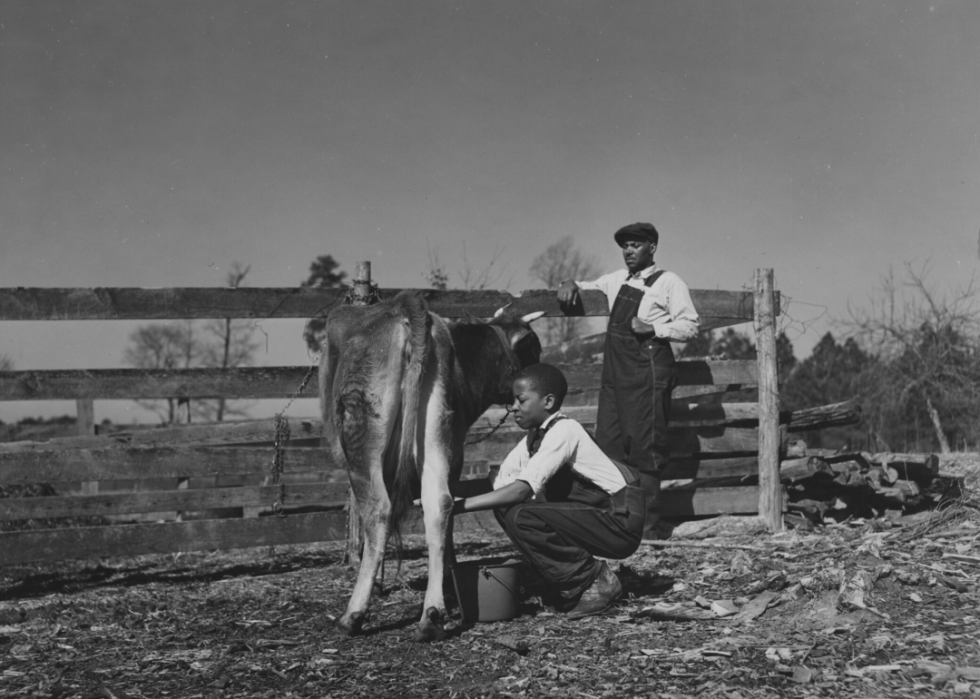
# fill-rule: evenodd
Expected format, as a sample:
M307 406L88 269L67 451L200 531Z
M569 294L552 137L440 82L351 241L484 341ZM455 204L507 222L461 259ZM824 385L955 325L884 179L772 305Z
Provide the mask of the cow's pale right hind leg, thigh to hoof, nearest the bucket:
M446 617L443 596L446 538L453 509L449 493L449 439L451 418L445 403L442 382L434 381L427 391L422 468L422 513L425 541L429 549L429 582L422 603L422 619L416 640L434 641L444 636L442 621Z

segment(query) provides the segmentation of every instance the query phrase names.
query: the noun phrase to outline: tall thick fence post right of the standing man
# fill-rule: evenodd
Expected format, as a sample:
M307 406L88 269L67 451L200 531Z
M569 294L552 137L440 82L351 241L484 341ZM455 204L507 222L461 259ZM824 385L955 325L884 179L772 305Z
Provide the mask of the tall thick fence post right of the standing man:
M755 342L759 362L759 516L772 533L783 529L779 482L779 377L776 364L773 271L755 272Z

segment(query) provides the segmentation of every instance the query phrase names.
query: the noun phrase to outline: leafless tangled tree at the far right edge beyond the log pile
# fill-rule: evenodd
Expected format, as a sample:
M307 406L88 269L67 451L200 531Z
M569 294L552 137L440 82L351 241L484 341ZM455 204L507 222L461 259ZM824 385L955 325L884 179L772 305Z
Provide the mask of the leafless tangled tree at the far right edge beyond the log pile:
M951 295L927 282L928 265L906 264L904 281L889 272L868 310L849 309L850 327L879 360L873 393L865 402L881 433L886 420L931 427L947 453L951 434L980 435L980 320L974 281Z

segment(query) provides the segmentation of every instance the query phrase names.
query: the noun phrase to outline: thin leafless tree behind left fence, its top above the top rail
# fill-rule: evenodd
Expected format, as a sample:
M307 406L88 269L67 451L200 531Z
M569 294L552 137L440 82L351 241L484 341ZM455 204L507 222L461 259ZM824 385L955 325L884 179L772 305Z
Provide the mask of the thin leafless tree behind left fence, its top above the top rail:
M226 281L232 289L238 289L245 281L251 267L243 267L235 262L228 271ZM206 367L229 369L251 366L260 343L253 340L255 325L250 320L221 318L209 321L204 331L213 339L201 351L201 364ZM196 413L207 420L221 422L227 415L247 416L247 406L232 406L225 398L216 401L199 401Z

